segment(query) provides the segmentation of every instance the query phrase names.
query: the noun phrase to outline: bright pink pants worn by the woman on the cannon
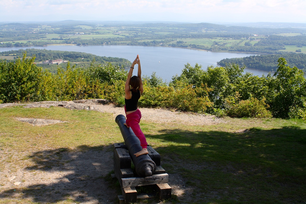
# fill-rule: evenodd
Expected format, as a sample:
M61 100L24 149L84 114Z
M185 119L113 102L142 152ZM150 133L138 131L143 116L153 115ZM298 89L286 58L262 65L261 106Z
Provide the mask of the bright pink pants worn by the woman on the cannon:
M125 113L126 109L124 107ZM141 119L141 112L139 109L137 111L132 112L128 115L126 115L126 126L131 127L137 138L140 140L140 146L144 149L147 148L147 140L146 137L144 136L144 133L140 130L140 119Z

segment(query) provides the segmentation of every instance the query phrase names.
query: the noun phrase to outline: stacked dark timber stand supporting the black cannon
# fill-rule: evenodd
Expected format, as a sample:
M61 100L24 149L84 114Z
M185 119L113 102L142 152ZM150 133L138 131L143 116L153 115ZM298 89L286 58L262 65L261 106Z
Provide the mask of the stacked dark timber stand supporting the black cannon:
M122 195L118 195L119 203L133 203L137 199L152 198L156 194L160 200L171 198L171 187L168 185L168 174L160 166L160 155L151 146L147 147L150 158L156 164L155 173L148 177L139 177L131 168L131 157L123 143L114 143L114 172L118 179ZM150 194L138 194L137 186L152 187Z

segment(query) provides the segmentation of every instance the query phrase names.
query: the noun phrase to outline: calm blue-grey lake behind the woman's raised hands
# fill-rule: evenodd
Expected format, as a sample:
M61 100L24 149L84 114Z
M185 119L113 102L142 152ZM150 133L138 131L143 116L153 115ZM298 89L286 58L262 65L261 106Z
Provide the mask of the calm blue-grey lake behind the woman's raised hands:
M0 52L9 50L27 49L29 47L1 47ZM35 49L60 50L86 52L98 56L119 57L133 61L139 54L142 75L151 76L152 72L162 77L166 82L184 69L184 65L196 63L202 65L203 69L207 66L217 66L217 62L225 58L247 57L252 53L229 53L229 52L210 52L201 50L191 50L174 47L154 47L154 46L126 46L126 45L53 45L47 47L31 47ZM245 72L252 72L254 75L267 75L267 71L246 69ZM136 75L136 69L133 73Z

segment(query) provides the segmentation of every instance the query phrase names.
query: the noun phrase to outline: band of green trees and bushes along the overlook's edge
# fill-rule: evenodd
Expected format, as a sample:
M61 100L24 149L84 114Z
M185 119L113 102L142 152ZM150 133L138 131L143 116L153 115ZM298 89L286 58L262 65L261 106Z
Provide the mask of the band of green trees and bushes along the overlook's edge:
M36 66L35 57L0 61L0 102L79 100L103 98L124 105L127 71L110 63L92 60L89 67L67 64L55 74ZM169 84L152 73L144 76L141 107L176 108L181 111L232 117L306 119L306 80L284 58L271 76L243 74L244 66L228 64L203 70L186 64Z

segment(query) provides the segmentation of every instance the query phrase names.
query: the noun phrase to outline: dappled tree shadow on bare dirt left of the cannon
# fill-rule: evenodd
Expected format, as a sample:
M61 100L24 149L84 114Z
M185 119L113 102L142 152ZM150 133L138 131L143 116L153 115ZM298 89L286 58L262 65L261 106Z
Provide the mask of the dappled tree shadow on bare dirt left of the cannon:
M41 181L2 191L0 198L14 197L19 191L22 198L39 203L67 199L82 203L110 203L117 199L116 189L104 178L113 169L111 150L112 145L82 145L78 151L59 148L34 152L30 159L35 164L26 167L25 172L35 174L32 177L41 176Z

